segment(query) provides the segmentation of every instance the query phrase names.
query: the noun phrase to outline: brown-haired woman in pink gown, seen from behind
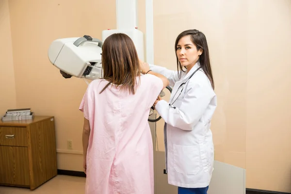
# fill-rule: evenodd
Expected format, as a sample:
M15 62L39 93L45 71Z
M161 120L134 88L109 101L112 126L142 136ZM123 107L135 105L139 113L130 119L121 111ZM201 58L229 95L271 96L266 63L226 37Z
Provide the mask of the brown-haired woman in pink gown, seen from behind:
M128 35L102 46L103 78L92 81L80 105L84 114L86 194L154 194L153 146L148 115L169 82L143 72Z

